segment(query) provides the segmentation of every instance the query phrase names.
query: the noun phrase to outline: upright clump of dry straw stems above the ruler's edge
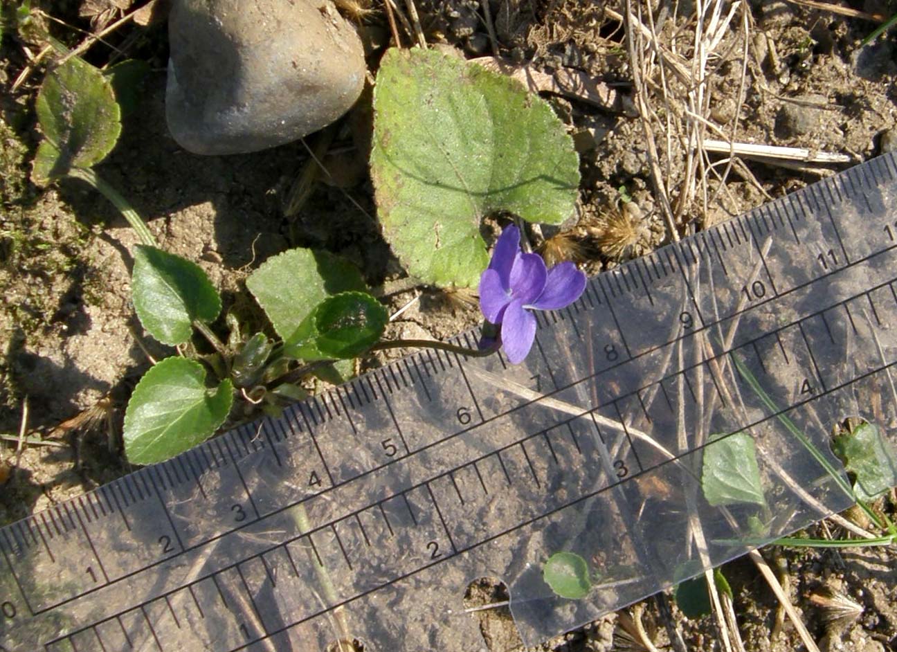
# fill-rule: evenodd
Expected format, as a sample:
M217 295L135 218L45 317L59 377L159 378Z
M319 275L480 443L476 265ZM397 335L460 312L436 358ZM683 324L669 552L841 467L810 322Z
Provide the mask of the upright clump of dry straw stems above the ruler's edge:
M672 239L684 223L706 219L733 170L745 176L734 157L711 161L704 143L710 132L736 141L747 88L749 7L741 0L695 0L689 6L692 13L680 15L680 4L655 11L649 3L626 0L621 16L651 181ZM723 129L711 122L710 106L718 69L727 61L738 65L739 77L735 117ZM718 182L715 190L710 175Z

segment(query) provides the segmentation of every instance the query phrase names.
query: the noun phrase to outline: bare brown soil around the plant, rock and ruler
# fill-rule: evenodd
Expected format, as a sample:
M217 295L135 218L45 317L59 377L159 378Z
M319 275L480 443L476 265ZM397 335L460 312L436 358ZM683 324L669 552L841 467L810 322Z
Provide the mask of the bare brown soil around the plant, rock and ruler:
M69 24L93 29L78 10L97 0L38 4ZM467 57L492 54L478 0L416 4L429 42L457 48ZM607 6L621 12L622 4ZM692 65L688 36L695 7L702 4L708 3L651 4L659 42L675 51L686 68ZM897 11L887 2L850 0L841 5L869 13ZM548 73L574 69L631 92L633 70L623 25L602 3L492 0L489 7L501 57L532 62ZM728 8L725 4L723 15ZM384 33L381 13L367 21L363 29ZM797 2L754 0L746 13L736 9L704 68L705 92L710 95L707 119L716 131L745 143L847 154L850 162L840 166L747 159L727 165L718 162L724 155L710 155L704 162L718 165L712 170L699 165L692 175L699 180L689 190L684 106L690 89L675 76L652 77L650 100L658 115L649 122L682 234L897 146L897 41L892 35L865 48L859 44L875 24ZM82 38L57 24L51 30L69 45ZM126 117L118 147L98 172L135 204L163 248L205 269L222 290L228 309L260 324L243 279L266 257L294 246L327 248L356 261L368 283L388 295L394 310L413 298L412 291L396 291L402 283L414 290L414 284L405 282L401 265L379 236L370 181L361 178L343 188L318 184L298 217L288 220L283 208L309 161L306 148L292 143L257 154L209 158L184 152L170 138L164 121L164 27L127 25L108 40L125 48L129 57L148 60L154 72L144 83L139 109ZM126 223L105 199L78 182L49 188L30 183L30 161L39 140L33 103L42 67L17 90L12 87L39 48L39 42L6 36L0 50L0 432L17 434L27 405L27 429L55 445L24 448L0 489L0 524L129 471L120 445L127 397L150 365L150 356L170 353L142 333L130 304L128 250L135 238ZM104 65L111 52L95 45L87 58ZM376 57L371 65L376 65ZM669 235L642 122L585 101L551 100L576 135L582 183L576 220L565 225L563 238L547 243L546 253L573 256L596 273L621 257L666 244ZM669 126L666 133L658 129L662 125ZM722 136L709 128L706 137ZM333 149L351 146L341 134ZM631 205L624 197L631 198ZM479 320L475 302L466 293L419 290L421 299L390 326L389 335L443 338ZM371 358L363 364L381 361ZM83 423L73 428L72 419ZM0 457L8 471L17 458L15 443L5 441ZM893 513L893 501L888 509ZM893 547L845 552L767 549L763 554L778 569L792 603L823 650L897 649ZM752 564L735 561L724 572L733 587L747 650L801 648ZM861 607L858 618L832 622L831 605L818 598L825 590L855 601ZM469 587L465 606L503 599L507 592L501 584L484 579ZM672 628L689 650L720 649L709 618L689 621L675 604L668 618L664 605L670 602L648 600L640 616L658 648L670 645ZM518 649L507 609L474 612L471 618L479 620L483 649ZM612 614L539 649L643 649L627 639L621 625L621 617Z

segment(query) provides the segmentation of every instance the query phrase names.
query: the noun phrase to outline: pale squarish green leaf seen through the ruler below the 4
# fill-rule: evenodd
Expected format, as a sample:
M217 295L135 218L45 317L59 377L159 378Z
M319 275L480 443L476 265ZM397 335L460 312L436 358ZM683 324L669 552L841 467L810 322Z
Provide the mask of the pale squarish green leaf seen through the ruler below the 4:
M719 439L711 435L704 448L701 488L704 498L713 506L753 503L765 505L766 497L760 482L760 468L753 439L736 432Z

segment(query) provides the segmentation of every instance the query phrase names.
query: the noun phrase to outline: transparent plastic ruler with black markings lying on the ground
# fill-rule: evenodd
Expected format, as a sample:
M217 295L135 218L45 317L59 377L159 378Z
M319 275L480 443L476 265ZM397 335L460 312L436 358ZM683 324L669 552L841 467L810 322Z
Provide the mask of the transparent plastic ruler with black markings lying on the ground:
M4 527L0 646L475 650L483 576L532 644L844 509L794 430L893 445L895 220L888 155L591 279L521 365L416 353ZM710 505L739 432L762 500Z

